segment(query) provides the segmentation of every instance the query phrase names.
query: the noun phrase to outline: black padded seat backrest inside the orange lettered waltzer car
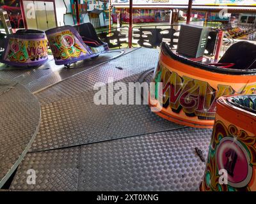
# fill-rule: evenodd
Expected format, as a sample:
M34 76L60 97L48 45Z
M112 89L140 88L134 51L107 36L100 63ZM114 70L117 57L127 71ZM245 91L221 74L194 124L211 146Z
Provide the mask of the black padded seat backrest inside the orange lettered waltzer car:
M228 48L220 63L234 63L233 69L256 69L256 45L240 41Z

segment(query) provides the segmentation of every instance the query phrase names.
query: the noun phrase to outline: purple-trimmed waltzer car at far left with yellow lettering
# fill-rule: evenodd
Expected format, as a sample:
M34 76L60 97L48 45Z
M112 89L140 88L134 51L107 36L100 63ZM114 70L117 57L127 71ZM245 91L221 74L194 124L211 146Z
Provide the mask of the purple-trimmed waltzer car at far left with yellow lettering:
M40 66L48 60L47 40L42 31L19 30L7 36L1 62L11 66Z

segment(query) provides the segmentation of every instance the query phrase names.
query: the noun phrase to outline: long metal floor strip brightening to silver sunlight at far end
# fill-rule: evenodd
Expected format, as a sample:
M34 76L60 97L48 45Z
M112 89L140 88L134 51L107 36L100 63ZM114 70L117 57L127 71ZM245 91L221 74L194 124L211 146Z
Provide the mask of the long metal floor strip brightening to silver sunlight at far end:
M68 78L68 80L52 86L51 89L36 93L36 97L41 103L51 103L52 101L58 101L60 98L72 97L84 91L91 91L96 82L107 84L108 78L119 81L154 68L158 55L159 50L140 48L95 69ZM122 68L122 70L118 68Z

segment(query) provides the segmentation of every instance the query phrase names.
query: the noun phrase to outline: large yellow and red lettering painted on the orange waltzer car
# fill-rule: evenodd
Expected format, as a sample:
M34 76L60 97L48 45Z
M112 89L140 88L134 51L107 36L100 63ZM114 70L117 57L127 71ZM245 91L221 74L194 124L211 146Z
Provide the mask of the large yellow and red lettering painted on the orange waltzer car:
M158 65L155 76L155 82L163 82L163 107L171 108L177 114L183 111L188 117L214 119L216 99L235 93L228 85L218 85L215 90L207 82L180 77L162 64Z

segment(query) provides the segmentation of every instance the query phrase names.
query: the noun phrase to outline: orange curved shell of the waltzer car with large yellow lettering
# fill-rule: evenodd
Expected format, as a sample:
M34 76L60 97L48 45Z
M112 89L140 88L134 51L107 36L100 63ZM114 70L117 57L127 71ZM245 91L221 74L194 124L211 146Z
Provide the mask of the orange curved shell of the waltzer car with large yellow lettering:
M234 45L239 47L239 44ZM212 128L216 99L256 91L256 70L229 68L233 65L220 67L193 61L175 54L166 43L162 43L153 82L156 82L156 90L157 82L163 83L163 102L159 99L161 94L150 92L149 105L159 111L157 115L172 122Z

